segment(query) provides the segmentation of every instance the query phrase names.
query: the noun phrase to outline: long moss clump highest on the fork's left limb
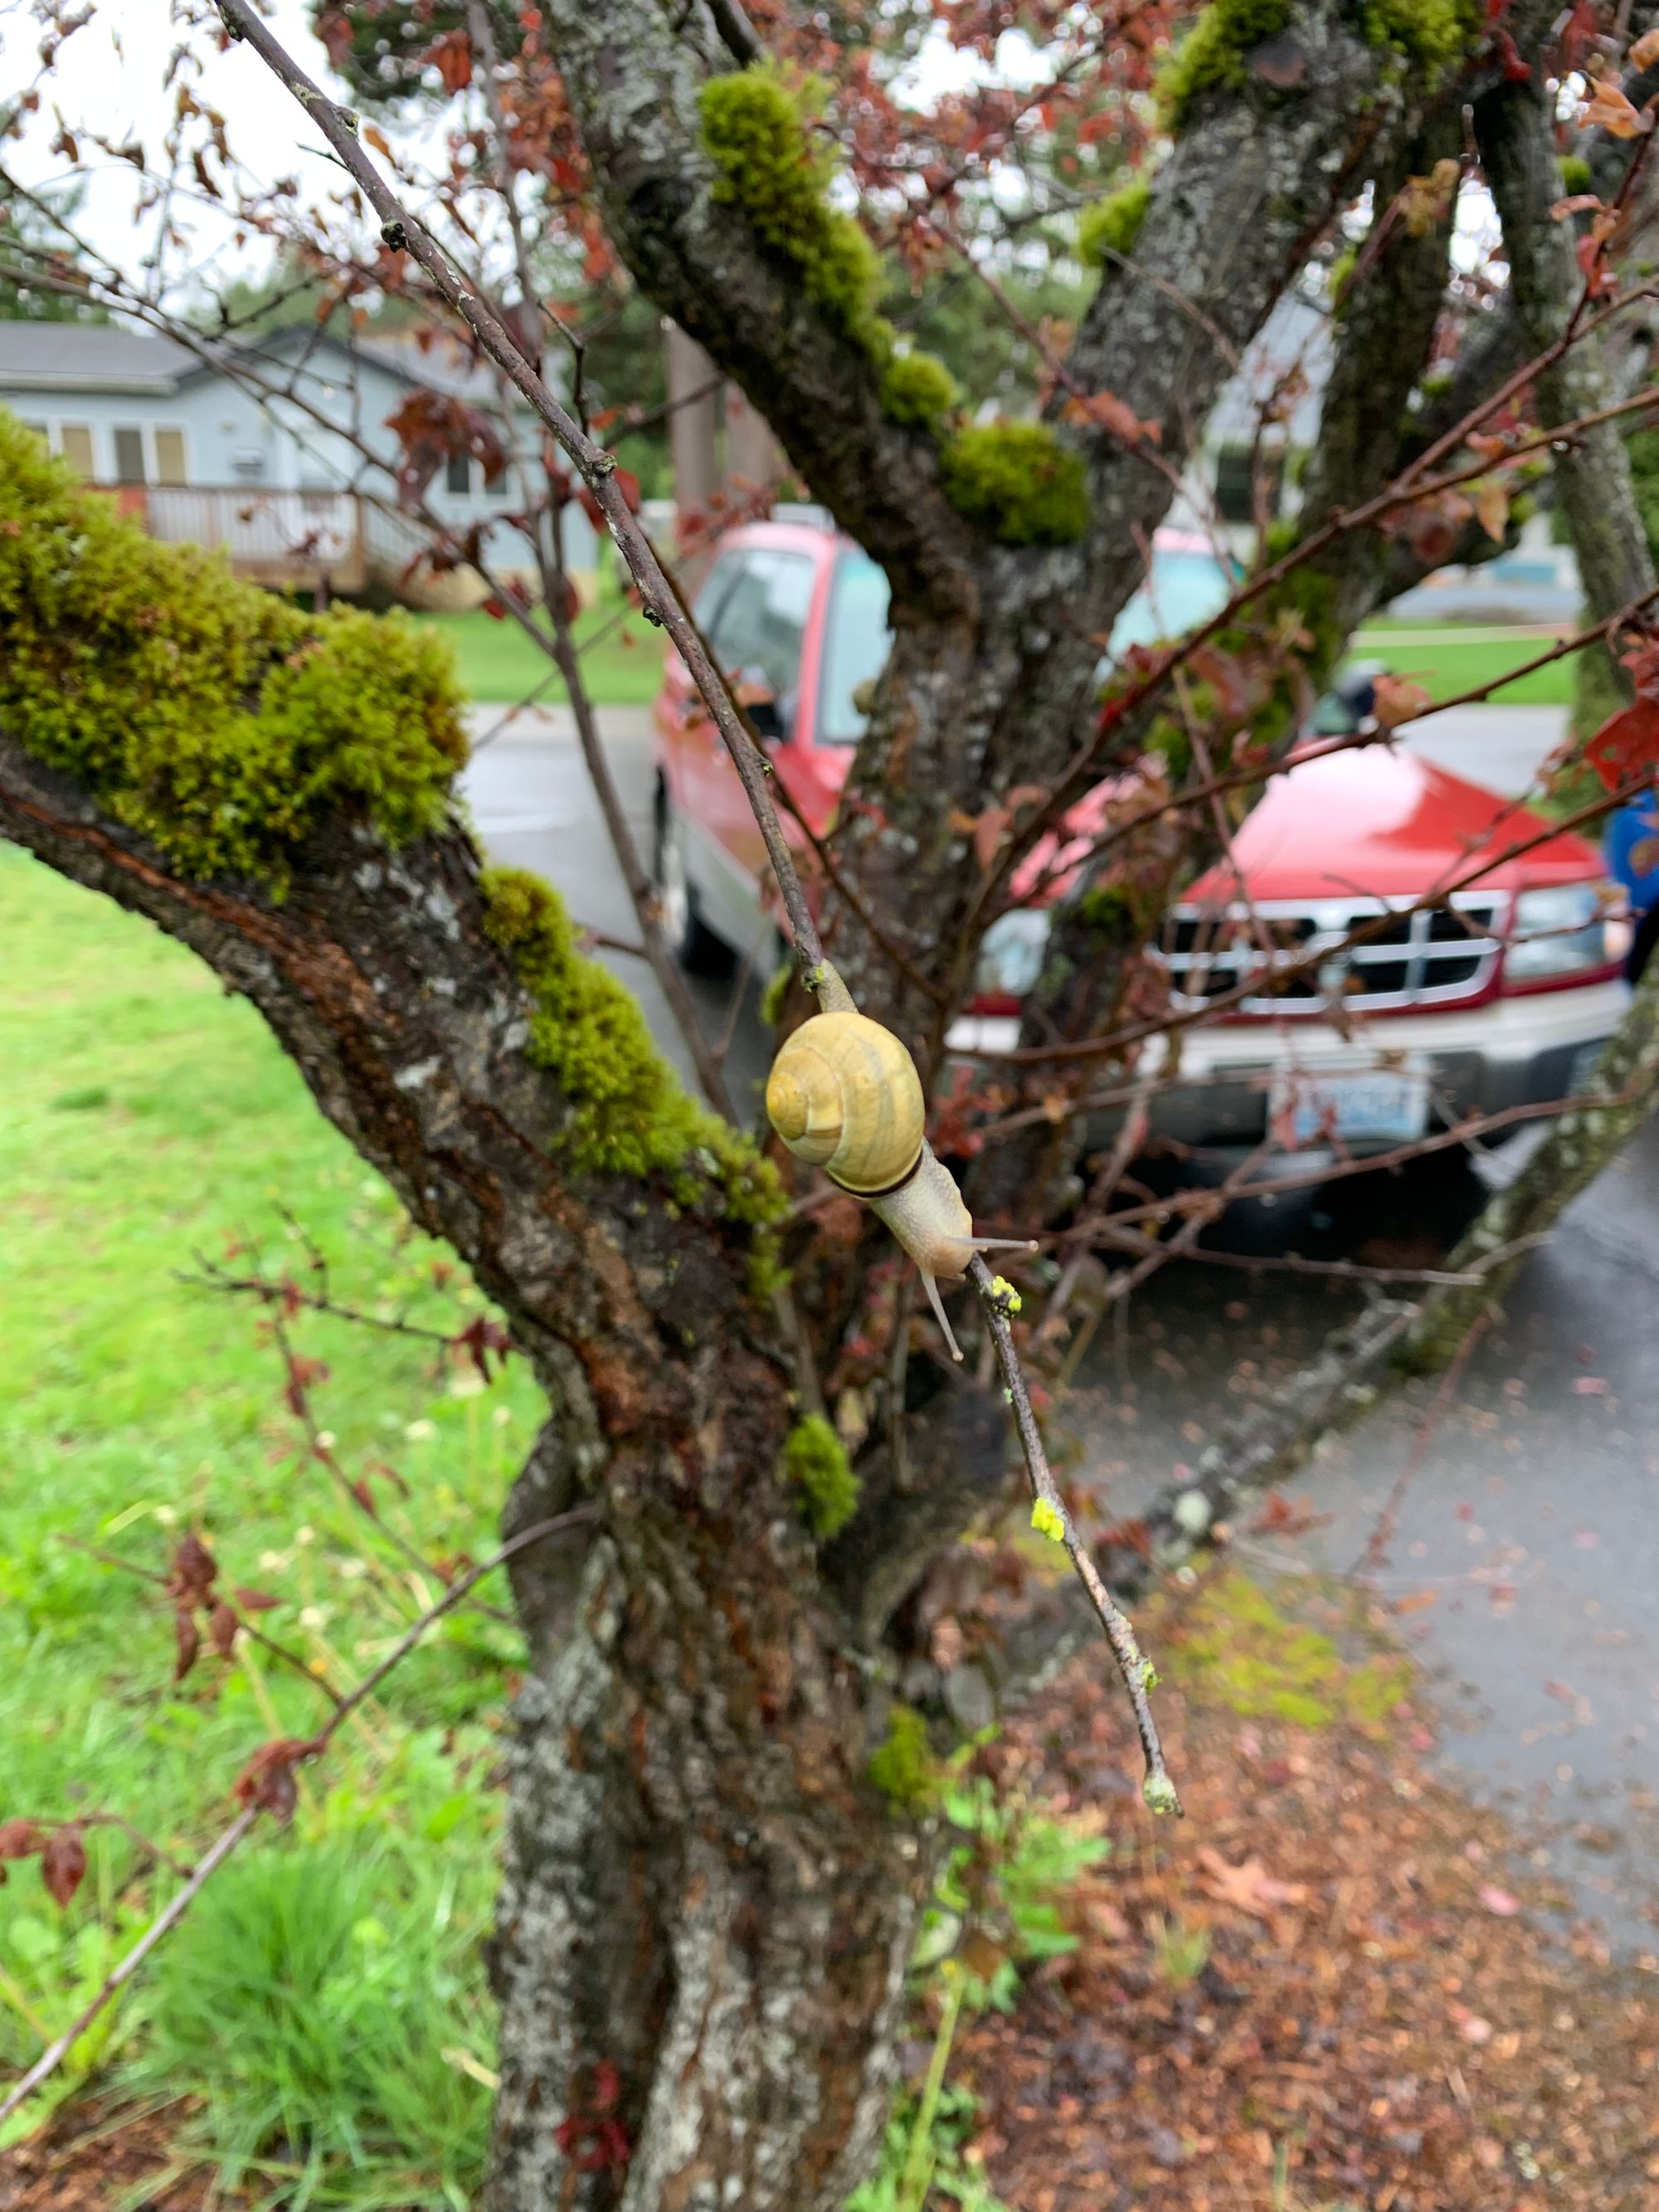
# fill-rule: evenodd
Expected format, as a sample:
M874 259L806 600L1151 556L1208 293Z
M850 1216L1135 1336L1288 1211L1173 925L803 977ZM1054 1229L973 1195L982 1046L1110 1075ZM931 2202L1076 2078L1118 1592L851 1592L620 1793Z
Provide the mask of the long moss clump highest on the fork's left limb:
M830 206L830 157L812 144L816 93L794 93L761 64L710 77L697 95L703 146L719 170L714 197L732 201L772 252L790 261L821 307L874 358L891 354L876 314L880 259L852 215Z

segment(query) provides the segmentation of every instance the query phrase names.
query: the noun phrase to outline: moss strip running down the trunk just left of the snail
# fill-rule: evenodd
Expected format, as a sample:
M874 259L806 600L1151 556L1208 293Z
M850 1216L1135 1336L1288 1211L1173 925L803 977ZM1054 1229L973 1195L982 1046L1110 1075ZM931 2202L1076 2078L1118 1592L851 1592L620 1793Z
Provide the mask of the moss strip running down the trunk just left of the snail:
M593 1175L677 1170L690 1177L688 1201L699 1197L692 1170L701 1170L734 1221L776 1221L785 1210L776 1170L686 1097L637 1000L575 949L560 894L518 867L484 869L480 891L484 933L535 995L526 1055L557 1077L571 1102L573 1166Z

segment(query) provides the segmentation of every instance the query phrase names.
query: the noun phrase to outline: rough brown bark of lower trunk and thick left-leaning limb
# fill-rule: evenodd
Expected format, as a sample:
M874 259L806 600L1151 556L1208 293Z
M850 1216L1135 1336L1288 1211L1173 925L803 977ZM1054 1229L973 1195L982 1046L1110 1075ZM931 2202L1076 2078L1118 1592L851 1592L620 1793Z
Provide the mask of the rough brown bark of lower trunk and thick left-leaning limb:
M752 1232L695 1164L571 1166L460 830L389 852L334 823L272 902L177 878L0 737L0 834L250 998L500 1303L551 1400L509 1533L597 1500L580 1588L557 1548L515 1564L535 1663L495 2205L838 2212L885 2110L927 1851L865 1778L885 1670L854 1657L781 1473L792 1378Z

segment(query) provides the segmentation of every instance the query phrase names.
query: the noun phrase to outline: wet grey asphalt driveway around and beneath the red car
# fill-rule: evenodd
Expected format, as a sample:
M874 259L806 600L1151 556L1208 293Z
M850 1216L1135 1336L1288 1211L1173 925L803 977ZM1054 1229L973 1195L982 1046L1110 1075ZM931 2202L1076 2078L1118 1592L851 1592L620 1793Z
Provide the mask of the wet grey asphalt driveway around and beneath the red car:
M478 710L478 728L498 714ZM650 721L604 717L606 748L641 849L650 832ZM1551 708L1464 710L1418 745L1473 781L1517 792L1559 737ZM577 920L633 936L633 916L582 759L562 714L522 717L467 774L489 852L549 876ZM639 991L677 1055L650 975L602 958ZM754 1095L765 1033L754 989L692 978L710 1035L730 1029L730 1073ZM1531 1139L1520 1139L1531 1141ZM1455 1159L1365 1177L1325 1194L1237 1210L1239 1254L1387 1256L1427 1263L1520 1157ZM1079 1371L1071 1418L1113 1513L1190 1460L1252 1391L1270 1391L1340 1314L1329 1283L1274 1270L1172 1265L1133 1301ZM1442 1759L1506 1803L1533 1851L1573 1885L1615 1949L1659 1955L1659 1126L1650 1126L1559 1237L1531 1254L1500 1329L1475 1347L1422 1451L1380 1571L1405 1601L1400 1635L1447 1717ZM1413 1387L1292 1484L1329 1522L1294 1544L1250 1544L1281 1566L1347 1568L1411 1458L1431 1391Z

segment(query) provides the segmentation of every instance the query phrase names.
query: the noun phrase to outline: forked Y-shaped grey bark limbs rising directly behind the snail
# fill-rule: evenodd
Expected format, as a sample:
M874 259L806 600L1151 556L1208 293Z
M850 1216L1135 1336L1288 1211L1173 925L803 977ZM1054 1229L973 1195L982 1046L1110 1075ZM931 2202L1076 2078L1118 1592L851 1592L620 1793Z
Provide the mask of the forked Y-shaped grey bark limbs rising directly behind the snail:
M889 573L894 650L834 852L940 998L896 975L834 894L823 929L854 998L918 1048L925 1075L989 920L971 922L982 869L962 814L1013 785L1042 785L1075 752L1099 637L1141 580L1139 544L1166 513L1232 358L1407 113L1398 69L1349 13L1305 0L1274 84L1263 73L1243 93L1208 95L1177 139L1133 263L1104 279L1066 363L1075 387L1113 392L1161 442L1126 447L1062 425L1091 471L1088 535L1015 549L949 504L933 436L880 414L872 363L741 212L712 197L697 91L728 55L701 9L672 24L650 0L555 0L549 11L633 274L748 392L814 495ZM1281 64L1290 91L1274 88Z

